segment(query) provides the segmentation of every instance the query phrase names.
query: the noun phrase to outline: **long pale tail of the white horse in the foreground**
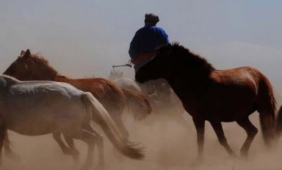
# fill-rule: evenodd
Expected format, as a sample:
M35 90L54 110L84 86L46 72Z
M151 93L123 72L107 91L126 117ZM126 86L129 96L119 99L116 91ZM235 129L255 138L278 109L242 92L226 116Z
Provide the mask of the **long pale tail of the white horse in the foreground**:
M132 159L142 159L145 157L142 153L143 148L130 143L125 136L123 136L123 133L120 132L109 113L90 92L86 92L83 99L87 107L90 107L92 110L92 120L102 127L106 136L111 140L111 143L113 143L123 155Z

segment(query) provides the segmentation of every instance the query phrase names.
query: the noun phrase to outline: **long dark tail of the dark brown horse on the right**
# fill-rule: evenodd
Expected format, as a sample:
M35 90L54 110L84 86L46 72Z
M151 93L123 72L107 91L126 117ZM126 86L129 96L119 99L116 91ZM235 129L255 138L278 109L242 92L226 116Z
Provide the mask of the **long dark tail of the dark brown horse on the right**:
M266 145L271 145L271 141L275 138L276 100L270 81L263 74L259 81L258 96L257 111L259 112L262 136Z

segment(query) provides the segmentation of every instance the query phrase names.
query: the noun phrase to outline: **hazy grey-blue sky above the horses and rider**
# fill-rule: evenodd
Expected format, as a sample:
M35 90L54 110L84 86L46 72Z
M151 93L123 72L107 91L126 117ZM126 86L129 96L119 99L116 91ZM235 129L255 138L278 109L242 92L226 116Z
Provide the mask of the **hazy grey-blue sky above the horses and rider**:
M217 69L257 67L282 93L281 8L278 0L1 0L0 71L30 48L62 74L107 77L111 65L129 60L131 39L153 12L170 41Z

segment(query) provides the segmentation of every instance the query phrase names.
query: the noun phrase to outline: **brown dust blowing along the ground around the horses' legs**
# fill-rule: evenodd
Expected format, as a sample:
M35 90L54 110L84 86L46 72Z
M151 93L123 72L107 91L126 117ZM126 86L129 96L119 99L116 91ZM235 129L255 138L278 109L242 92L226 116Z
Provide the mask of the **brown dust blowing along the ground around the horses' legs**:
M259 129L259 115L253 114L251 121ZM184 120L184 121L183 121ZM182 170L182 169L282 169L282 141L274 148L264 146L258 133L250 148L247 159L230 158L219 144L212 126L206 122L204 141L204 162L195 164L197 138L192 118L187 113L153 112L147 119L135 122L125 112L123 122L130 131L130 140L145 147L145 159L128 159L121 155L109 140L105 141L106 169L113 170ZM96 126L96 125L95 125ZM99 129L99 128L98 128ZM240 147L246 133L235 123L223 123L228 143L240 155ZM101 131L101 129L99 129ZM80 169L85 162L87 145L75 140L80 151L80 163L74 164L71 156L63 155L51 135L22 136L8 132L13 151L20 155L20 162L13 162L4 155L3 169L7 170L68 170ZM97 148L95 148L95 165Z

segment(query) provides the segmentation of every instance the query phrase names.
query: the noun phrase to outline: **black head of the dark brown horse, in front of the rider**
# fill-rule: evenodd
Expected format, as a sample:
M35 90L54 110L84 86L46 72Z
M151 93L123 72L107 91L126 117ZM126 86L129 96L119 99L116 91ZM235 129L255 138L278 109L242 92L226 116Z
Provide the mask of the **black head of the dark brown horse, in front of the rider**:
M152 79L166 79L170 74L172 62L171 44L160 46L154 58L136 72L135 79L140 83Z

